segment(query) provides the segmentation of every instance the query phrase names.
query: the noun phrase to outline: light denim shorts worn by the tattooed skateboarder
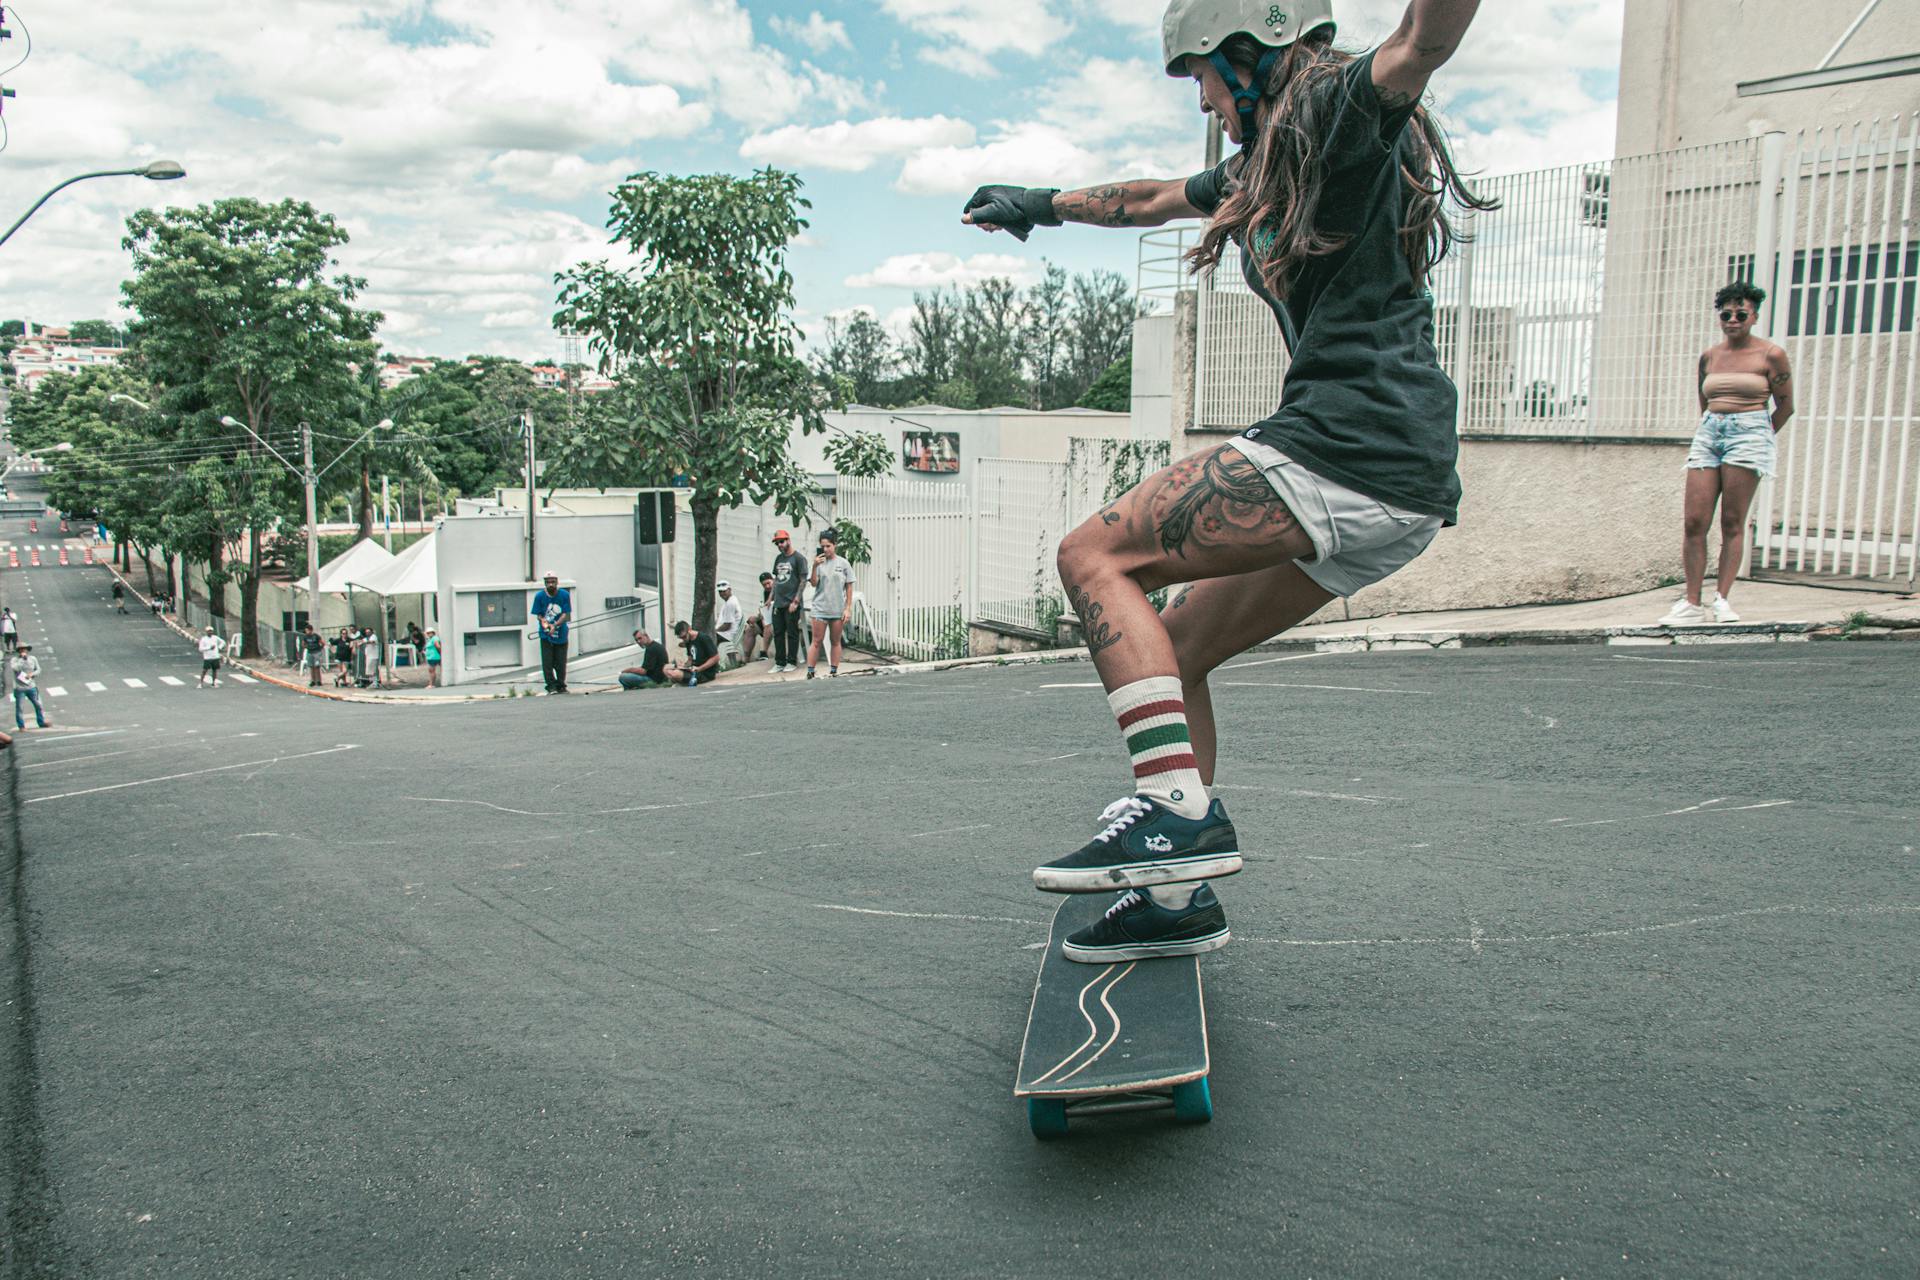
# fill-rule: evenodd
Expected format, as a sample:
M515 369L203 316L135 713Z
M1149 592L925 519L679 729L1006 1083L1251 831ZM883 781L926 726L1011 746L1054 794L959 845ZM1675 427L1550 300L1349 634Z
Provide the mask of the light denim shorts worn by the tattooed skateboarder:
M1444 524L1440 516L1392 507L1315 476L1260 439L1236 436L1227 443L1260 468L1313 543L1313 558L1296 560L1300 572L1334 595L1354 595L1398 572L1427 551Z

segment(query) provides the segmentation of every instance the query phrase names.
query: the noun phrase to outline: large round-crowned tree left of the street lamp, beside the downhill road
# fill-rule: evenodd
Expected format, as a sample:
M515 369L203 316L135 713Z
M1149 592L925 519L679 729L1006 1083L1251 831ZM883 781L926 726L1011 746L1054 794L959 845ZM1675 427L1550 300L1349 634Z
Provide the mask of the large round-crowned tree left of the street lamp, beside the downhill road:
M227 526L248 537L242 654L255 652L263 537L278 520L301 518L298 478L261 439L294 457L301 418L315 426L355 418L365 391L353 365L376 355L380 315L353 307L367 282L338 273L334 259L346 242L332 217L298 200L234 198L127 219L121 244L134 274L121 294L134 311L140 359L167 388L188 436L205 438L198 424L223 413L252 430L234 474L198 476L209 497L227 503L215 514L246 522ZM215 547L209 562L223 551Z

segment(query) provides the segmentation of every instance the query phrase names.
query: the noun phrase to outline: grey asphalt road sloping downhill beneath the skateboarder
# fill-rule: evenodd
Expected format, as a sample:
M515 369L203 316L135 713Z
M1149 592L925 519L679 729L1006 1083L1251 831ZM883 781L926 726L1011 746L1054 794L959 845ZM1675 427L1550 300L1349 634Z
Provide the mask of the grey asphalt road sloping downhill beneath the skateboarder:
M1091 668L348 706L27 581L146 687L0 764L8 1274L1920 1268L1920 645L1225 674L1215 1121L1039 1144Z

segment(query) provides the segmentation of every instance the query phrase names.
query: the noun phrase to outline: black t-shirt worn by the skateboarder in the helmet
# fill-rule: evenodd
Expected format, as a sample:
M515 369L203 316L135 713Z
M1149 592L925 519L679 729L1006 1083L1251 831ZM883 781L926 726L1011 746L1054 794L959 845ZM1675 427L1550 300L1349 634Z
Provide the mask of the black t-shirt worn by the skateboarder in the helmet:
M1309 257L1284 301L1261 286L1240 244L1246 282L1273 309L1292 353L1281 407L1242 434L1367 497L1453 524L1457 395L1434 351L1432 294L1415 284L1400 249L1407 194L1400 167L1413 159L1413 106L1380 109L1373 54L1342 67L1331 92L1340 104L1321 140L1319 226L1350 240ZM1238 165L1231 155L1187 178L1187 203L1213 213Z

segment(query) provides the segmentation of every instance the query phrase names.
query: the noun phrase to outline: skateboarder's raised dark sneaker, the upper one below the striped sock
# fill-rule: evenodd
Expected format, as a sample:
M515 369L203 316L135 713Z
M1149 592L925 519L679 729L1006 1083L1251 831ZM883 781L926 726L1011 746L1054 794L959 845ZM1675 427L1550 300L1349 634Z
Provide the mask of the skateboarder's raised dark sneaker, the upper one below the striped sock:
M1100 814L1106 829L1077 852L1033 871L1056 894L1096 894L1177 881L1210 881L1240 869L1240 837L1213 800L1204 818L1181 818L1146 796L1127 796Z

